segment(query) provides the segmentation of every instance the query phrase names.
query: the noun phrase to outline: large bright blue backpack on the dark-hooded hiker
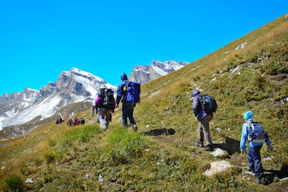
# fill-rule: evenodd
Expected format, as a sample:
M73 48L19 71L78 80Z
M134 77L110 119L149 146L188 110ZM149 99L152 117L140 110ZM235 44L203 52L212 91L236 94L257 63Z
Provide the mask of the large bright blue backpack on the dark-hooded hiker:
M134 81L127 81L125 85L127 91L127 101L134 104L140 103L141 84Z

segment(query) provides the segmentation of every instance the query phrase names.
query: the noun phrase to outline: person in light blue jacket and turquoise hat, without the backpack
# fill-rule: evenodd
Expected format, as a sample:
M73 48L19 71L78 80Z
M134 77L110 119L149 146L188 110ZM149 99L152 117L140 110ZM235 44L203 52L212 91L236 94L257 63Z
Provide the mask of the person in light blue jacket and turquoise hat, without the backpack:
M253 112L252 111L247 111L246 113L244 113L243 118L244 118L245 122L243 123L243 126L242 126L242 133L241 133L241 140L240 140L241 154L243 154L243 151L246 149L246 141L248 141L248 146L249 146L249 148L248 148L248 165L249 165L248 171L255 173L255 175L257 177L256 182L258 184L266 184L267 180L263 175L264 170L262 167L260 150L261 150L263 143L265 141L267 144L268 151L272 152L274 149L273 149L273 146L271 145L271 140L269 139L269 136L266 133L265 133L266 136L262 141L258 142L257 140L252 140L252 138L250 137L251 134L249 134L249 130L248 130L248 129L250 129L249 126L251 126L251 124L252 124L253 129L257 129L256 126L261 127L261 125L259 125L259 123L255 122L252 119L253 118Z

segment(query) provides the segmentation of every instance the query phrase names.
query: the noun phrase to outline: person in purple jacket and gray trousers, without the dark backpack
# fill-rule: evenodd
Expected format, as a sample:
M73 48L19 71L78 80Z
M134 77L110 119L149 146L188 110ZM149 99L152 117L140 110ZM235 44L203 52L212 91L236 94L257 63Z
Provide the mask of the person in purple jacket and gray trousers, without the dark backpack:
M213 118L213 113L206 113L200 104L200 91L194 89L191 94L191 99L193 101L193 112L197 117L198 123L198 138L199 141L196 143L198 147L203 147L205 151L213 151L213 143L211 141L210 130L209 130L209 122ZM207 143L207 146L204 147L204 138Z

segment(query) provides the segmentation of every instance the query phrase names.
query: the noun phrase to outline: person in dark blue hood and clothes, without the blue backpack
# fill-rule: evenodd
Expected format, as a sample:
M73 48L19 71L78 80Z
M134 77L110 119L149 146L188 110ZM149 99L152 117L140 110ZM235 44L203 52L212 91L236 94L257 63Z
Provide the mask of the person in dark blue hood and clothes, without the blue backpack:
M116 108L118 108L120 100L122 99L122 124L124 129L127 129L127 118L129 118L131 127L137 131L138 127L133 117L134 112L134 99L129 99L127 91L127 83L129 83L127 74L125 72L121 75L122 83L117 89Z

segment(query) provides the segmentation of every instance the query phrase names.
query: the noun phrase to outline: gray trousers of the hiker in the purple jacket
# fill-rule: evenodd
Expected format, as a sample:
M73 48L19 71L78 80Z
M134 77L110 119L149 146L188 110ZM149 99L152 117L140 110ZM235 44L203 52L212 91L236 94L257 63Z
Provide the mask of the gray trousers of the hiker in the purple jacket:
M212 145L209 129L209 122L211 121L212 118L213 118L212 115L207 115L198 123L198 138L200 141L204 141L205 138L207 145Z

